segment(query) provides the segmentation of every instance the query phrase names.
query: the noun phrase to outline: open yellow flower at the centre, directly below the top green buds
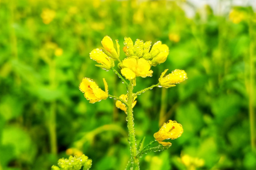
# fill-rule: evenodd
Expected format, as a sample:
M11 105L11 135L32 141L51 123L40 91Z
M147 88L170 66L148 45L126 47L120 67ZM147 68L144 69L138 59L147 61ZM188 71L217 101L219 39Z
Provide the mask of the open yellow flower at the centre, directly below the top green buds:
M135 77L152 76L151 65L143 58L126 58L122 60L121 73L125 79L134 79Z

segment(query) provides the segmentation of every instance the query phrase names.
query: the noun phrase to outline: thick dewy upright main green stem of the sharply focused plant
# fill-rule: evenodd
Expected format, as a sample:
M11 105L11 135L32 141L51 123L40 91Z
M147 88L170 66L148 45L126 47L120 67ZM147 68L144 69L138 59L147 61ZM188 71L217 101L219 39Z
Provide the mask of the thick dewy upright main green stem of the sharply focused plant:
M134 117L132 110L132 102L134 98L133 94L133 85L132 81L130 81L128 85L128 99L127 99L127 127L128 127L128 141L130 144L130 152L131 152L131 164L133 170L139 170L139 158L137 157L137 147L136 147L136 139L135 139L135 131L134 131Z

